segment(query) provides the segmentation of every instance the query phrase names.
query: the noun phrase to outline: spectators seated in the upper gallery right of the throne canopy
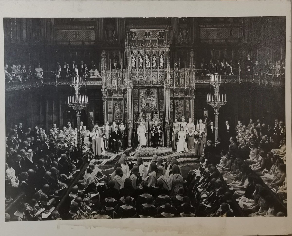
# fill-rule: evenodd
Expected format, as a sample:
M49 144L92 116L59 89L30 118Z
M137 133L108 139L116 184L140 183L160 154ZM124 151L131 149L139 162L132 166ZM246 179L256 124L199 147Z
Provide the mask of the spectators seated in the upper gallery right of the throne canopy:
M257 75L257 76L273 76L285 77L285 60L276 61L253 61L248 54L243 63L241 60L232 61L232 59L210 59L206 62L202 58L199 64L199 69L196 71L197 76L206 76L217 72L219 75Z

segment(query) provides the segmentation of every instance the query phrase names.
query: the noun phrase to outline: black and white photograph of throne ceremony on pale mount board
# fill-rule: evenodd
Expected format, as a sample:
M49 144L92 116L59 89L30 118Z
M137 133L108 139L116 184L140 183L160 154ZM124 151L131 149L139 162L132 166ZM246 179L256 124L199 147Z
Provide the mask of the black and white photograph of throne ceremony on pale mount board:
M289 216L290 8L180 17L8 10L1 223L229 217L262 222L261 235L267 217Z

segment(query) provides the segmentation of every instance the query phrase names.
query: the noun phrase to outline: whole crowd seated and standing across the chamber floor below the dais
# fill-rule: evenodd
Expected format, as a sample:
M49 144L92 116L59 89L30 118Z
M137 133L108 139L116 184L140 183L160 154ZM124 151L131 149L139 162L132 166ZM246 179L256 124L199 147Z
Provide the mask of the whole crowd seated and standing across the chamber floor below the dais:
M86 127L83 131L83 140L88 134L93 137L93 132L85 132ZM145 166L138 154L132 163L123 154L107 177L98 168L91 148L94 140L86 139L83 149L92 153L91 163L71 189L68 214L62 219L234 216L236 204L246 216L282 215L273 208L271 197L274 191L281 201L287 198L284 122L276 119L273 128L265 128L260 120L254 124L251 119L247 126L239 122L235 131L238 136L229 139L229 146L218 145L222 149L217 166L207 160L217 149L205 149L199 167L185 178L176 158L165 157L164 163L154 155ZM81 163L76 140L76 129L69 123L62 130L54 124L49 134L37 126L25 133L21 123L7 130L6 203L25 193L10 220L60 219L54 211L55 201ZM238 150L249 152L249 158L236 158ZM224 187L222 175L231 189Z

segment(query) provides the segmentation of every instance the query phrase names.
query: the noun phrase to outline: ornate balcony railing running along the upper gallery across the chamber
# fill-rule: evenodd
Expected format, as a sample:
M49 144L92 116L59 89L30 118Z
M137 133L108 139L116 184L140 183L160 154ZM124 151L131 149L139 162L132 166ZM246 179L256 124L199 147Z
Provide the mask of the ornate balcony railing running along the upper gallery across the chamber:
M196 84L210 83L210 73L215 73L215 69L171 69L167 75L165 71L147 72L139 71L131 72L131 84L133 86L163 86L165 78L169 77L170 86L173 88L195 87ZM285 73L283 71L273 69L267 72L253 71L251 74L241 74L236 69L229 70L218 69L217 73L221 75L223 83L256 83L273 87L285 87ZM32 89L41 86L61 86L71 85L71 76L74 72L70 72L65 77L57 78L56 72L44 71L42 77L25 76L23 73L17 74L12 80L5 80L5 92L17 91L23 89ZM102 85L102 74L98 71L98 78L91 78L90 71L84 75L86 86ZM20 80L18 80L20 78ZM107 89L123 89L127 85L126 70L106 70L104 85Z

